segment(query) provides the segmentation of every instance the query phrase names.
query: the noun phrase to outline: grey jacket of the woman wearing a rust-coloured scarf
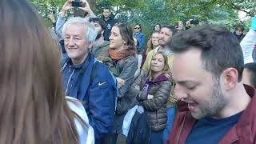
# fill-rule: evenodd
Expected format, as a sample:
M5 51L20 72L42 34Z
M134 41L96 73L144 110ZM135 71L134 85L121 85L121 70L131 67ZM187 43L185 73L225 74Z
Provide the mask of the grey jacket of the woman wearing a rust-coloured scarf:
M128 94L127 91L134 82L134 74L137 70L137 61L138 59L132 54L116 63L118 78L122 78L126 81L125 85L118 89L117 114L126 114L127 110L136 105L135 97Z

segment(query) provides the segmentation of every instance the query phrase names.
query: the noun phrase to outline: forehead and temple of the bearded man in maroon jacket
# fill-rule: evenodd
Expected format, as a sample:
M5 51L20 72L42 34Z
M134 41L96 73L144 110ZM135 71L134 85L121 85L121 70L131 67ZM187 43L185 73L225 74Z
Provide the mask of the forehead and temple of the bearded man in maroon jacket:
M204 69L201 50L191 49L174 54L173 77L177 82L198 82L212 78L212 74Z

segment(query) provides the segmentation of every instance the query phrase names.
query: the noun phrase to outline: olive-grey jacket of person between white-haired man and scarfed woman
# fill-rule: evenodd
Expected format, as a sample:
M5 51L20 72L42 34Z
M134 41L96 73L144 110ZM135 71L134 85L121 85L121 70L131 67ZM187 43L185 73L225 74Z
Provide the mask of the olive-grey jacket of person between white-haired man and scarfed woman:
M104 64L106 64L106 67L114 76L118 75L118 72L114 66L114 62L112 58L110 58L109 54L109 48L110 48L110 42L104 41L102 45L94 47L91 50L91 54L94 54L94 57L97 58L99 61L102 61Z

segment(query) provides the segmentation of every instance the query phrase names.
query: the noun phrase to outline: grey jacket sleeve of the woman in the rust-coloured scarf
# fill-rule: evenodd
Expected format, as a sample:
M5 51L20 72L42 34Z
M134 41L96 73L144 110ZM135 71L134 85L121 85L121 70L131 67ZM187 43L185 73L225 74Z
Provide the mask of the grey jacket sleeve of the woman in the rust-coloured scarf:
M126 83L118 89L118 98L122 98L126 94L126 91L129 90L130 85L134 81L134 74L137 70L137 58L128 59L128 62L124 65L118 77L125 80Z

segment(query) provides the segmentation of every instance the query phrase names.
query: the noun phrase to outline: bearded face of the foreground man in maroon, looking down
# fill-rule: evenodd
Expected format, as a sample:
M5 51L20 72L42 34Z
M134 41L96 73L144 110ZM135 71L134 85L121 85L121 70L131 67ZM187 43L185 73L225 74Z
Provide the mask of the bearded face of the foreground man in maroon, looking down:
M176 82L174 95L187 102L196 119L218 117L226 106L222 83L205 70L201 50L196 48L174 54L173 78Z

